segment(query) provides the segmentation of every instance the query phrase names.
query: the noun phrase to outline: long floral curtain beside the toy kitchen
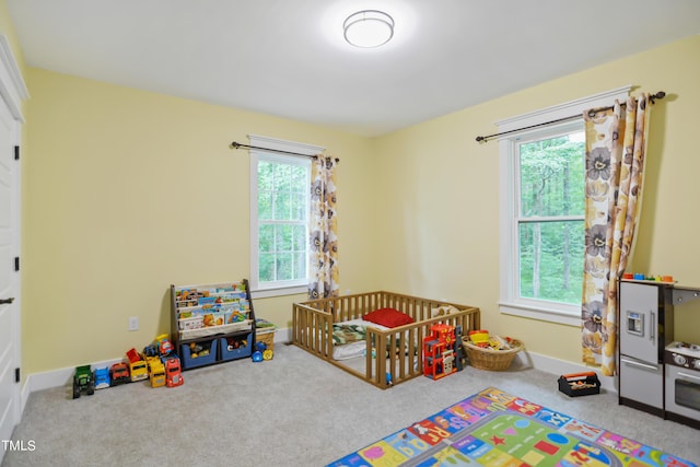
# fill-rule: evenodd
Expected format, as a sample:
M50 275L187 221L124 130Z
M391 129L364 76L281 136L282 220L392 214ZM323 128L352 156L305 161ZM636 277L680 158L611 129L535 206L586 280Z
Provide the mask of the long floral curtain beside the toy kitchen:
M617 280L625 272L640 213L649 95L584 112L586 132L583 361L617 373Z

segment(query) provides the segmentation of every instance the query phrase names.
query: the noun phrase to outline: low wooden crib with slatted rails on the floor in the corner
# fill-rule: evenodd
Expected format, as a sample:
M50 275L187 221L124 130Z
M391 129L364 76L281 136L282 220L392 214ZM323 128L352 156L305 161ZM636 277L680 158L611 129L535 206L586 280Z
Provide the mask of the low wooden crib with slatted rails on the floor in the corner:
M452 305L457 311L434 316L434 310ZM381 330L366 327L365 369L360 371L334 359L331 329L334 323L362 318L380 308L395 308L413 318L415 323ZM423 374L422 342L434 324L460 326L463 335L480 329L480 311L459 305L392 292L368 292L295 303L292 312L292 343L326 360L364 381L386 389ZM386 355L377 349L387 349ZM374 353L374 355L373 355Z

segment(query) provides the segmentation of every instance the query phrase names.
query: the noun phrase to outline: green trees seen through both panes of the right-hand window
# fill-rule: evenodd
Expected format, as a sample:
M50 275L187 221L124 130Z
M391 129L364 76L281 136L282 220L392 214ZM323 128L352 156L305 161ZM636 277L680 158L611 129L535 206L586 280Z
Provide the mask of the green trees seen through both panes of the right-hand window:
M520 295L581 303L585 141L582 130L516 144Z

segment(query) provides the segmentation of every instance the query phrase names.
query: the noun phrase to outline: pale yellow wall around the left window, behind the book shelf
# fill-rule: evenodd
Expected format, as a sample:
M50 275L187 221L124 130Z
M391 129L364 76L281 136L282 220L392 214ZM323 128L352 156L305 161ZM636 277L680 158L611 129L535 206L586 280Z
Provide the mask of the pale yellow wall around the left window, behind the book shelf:
M25 77L23 341L26 371L118 358L170 329L168 285L249 273L246 135L319 144L340 157L343 258L374 257L362 229L371 141L270 116L33 69ZM343 288L370 289L363 262ZM256 301L287 327L302 296ZM128 331L129 316L140 330Z

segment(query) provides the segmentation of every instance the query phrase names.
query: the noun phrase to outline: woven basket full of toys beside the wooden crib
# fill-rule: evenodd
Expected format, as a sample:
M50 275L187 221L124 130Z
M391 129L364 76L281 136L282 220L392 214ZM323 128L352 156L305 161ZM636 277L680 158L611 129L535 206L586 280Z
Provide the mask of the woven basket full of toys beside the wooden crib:
M508 370L523 342L511 337L490 336L488 330L472 330L462 339L469 364L479 370Z

